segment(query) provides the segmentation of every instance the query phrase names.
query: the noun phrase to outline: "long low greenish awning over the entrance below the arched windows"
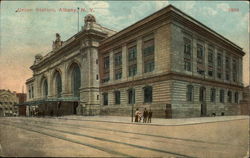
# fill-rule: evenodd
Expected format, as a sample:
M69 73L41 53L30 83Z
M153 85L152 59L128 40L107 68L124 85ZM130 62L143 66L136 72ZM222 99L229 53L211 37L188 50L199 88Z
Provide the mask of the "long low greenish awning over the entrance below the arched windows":
M41 100L35 100L35 101L28 101L20 104L15 104L15 106L35 106L39 104L49 103L49 102L78 102L80 101L79 97L66 97L66 98L47 98L47 99L41 99Z

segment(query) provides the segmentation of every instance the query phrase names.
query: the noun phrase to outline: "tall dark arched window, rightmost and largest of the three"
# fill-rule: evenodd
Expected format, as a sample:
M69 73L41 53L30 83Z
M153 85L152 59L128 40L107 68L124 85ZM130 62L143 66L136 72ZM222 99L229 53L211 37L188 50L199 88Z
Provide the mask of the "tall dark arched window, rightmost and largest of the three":
M77 64L72 66L71 87L74 97L80 97L81 71Z

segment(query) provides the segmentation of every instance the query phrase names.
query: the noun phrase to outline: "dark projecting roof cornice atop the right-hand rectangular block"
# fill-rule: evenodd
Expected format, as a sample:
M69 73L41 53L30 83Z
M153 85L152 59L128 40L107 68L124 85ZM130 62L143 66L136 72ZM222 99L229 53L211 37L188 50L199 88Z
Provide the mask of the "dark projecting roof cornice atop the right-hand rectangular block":
M149 26L153 21L156 21L156 19L159 19L163 16L177 21L185 26L188 26L188 28L190 28L191 30L197 31L204 36L209 36L213 40L216 40L222 45L225 45L227 48L231 48L233 51L238 52L242 56L245 55L245 52L243 52L241 47L172 5L168 5L167 7L117 32L113 36L106 38L100 43L100 49L102 49L103 47L105 48L106 45L109 45L111 43L113 44L115 42L118 42L120 39L126 38L127 36L133 35L134 32L136 32L136 30L138 30L139 28L145 28L145 26Z

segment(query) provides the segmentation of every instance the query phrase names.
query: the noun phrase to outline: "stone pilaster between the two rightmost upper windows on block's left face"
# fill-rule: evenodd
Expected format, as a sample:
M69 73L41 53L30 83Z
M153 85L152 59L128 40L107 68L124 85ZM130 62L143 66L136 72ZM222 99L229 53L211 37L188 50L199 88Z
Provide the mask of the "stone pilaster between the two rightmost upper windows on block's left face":
M136 43L136 54L137 54L137 74L141 75L143 73L143 59L142 59L142 38L137 39Z

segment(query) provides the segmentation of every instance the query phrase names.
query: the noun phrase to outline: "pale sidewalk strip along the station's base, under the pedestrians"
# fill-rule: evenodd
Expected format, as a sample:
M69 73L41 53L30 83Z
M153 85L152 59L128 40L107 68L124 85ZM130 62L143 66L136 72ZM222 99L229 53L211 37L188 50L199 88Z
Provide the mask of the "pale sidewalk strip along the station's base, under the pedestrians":
M98 121L98 122L114 122L114 123L126 123L131 124L131 117L125 116L61 116L61 119L74 119L84 121ZM198 123L209 123L209 122L221 122L221 121L232 121L248 119L249 116L216 116L216 117L196 117L196 118L177 118L177 119L165 119L165 118L152 118L152 123L133 122L133 124L151 124L151 125L188 125Z

